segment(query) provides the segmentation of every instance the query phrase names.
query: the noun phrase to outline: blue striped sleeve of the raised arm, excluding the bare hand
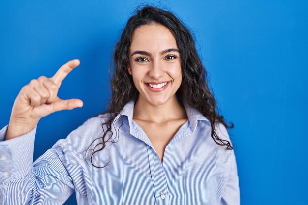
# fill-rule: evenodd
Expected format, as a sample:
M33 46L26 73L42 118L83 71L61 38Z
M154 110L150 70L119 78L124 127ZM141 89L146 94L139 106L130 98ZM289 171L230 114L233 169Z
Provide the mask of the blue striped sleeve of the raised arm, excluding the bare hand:
M33 164L36 127L29 133L2 141L0 131L0 205L62 205L74 192L57 143Z

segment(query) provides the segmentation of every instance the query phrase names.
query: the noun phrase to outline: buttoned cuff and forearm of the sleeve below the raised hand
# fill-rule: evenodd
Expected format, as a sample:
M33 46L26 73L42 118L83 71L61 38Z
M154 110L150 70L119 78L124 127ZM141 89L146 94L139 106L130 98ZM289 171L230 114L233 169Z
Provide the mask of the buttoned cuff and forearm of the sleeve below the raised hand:
M8 125L0 130L0 183L9 183L31 171L36 127L5 141Z

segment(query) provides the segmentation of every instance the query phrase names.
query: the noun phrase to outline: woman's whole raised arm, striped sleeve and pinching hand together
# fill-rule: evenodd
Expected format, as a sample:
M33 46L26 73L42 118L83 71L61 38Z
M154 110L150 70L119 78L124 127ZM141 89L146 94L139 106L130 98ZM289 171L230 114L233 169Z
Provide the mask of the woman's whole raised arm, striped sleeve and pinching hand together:
M59 144L32 162L38 121L83 105L79 99L57 96L62 81L79 63L68 61L53 77L31 80L16 97L9 125L0 131L0 205L58 205L73 193Z

